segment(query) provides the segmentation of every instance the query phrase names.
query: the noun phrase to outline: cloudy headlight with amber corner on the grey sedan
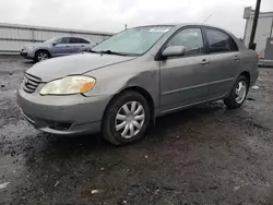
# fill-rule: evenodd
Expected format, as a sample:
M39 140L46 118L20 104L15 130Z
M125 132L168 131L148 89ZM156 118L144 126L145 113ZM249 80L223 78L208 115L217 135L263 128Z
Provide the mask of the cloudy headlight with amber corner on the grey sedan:
M84 75L67 76L60 80L55 80L40 89L40 95L70 95L82 94L92 89L96 80Z

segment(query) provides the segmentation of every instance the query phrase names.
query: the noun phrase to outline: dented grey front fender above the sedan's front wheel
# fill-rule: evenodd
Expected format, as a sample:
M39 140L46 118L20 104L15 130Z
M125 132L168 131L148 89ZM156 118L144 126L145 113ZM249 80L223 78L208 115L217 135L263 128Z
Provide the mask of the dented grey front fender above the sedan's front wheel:
M122 64L122 67L121 67ZM155 104L159 105L159 69L157 62L139 64L121 63L86 73L96 79L94 88L85 96L115 96L129 87L145 89ZM127 65L126 65L127 64ZM126 65L126 67L124 67Z

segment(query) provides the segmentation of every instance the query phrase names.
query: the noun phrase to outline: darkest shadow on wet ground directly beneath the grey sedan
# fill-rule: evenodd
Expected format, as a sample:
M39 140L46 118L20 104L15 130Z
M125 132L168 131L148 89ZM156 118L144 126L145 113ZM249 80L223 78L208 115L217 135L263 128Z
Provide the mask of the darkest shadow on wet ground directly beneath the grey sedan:
M103 150L110 152L112 149L130 148L133 146L154 146L153 143L162 143L167 133L176 130L178 126L183 126L185 123L197 121L210 114L214 116L221 110L226 110L223 102L206 104L199 107L169 113L156 119L156 124L150 125L146 132L146 140L142 140L131 145L115 146L106 142L100 134L81 135L81 136L56 136L50 134L40 133L36 137L34 150L28 155L29 161L41 156L46 160L56 160L57 156L60 159L69 160L70 157L85 156L91 153L100 153Z

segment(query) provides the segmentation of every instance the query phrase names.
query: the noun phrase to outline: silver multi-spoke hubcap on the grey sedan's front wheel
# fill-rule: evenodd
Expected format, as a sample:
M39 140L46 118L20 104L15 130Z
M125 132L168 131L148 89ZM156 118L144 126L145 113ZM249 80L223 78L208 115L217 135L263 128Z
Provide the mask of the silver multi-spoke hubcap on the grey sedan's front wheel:
M123 138L131 138L140 132L144 121L145 112L143 106L138 101L129 101L119 109L116 116L116 131Z

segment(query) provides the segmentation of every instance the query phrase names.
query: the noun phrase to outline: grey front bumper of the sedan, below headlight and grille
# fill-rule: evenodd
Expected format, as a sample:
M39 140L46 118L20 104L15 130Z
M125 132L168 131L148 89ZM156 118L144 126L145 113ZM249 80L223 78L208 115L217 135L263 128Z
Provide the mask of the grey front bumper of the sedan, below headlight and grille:
M38 130L62 135L99 132L109 99L110 96L40 96L17 91L23 117Z

